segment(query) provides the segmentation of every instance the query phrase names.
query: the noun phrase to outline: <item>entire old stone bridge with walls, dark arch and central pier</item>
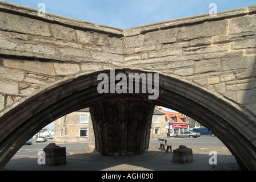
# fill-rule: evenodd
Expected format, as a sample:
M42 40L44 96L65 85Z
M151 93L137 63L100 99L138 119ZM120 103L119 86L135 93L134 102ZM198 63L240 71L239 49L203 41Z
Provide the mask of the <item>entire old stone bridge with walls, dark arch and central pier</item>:
M255 5L121 30L0 2L0 169L42 127L83 107L95 150L141 154L160 105L205 125L241 169L255 170L255 33ZM114 92L98 92L101 73ZM151 73L157 99L143 79L135 92L118 73Z

